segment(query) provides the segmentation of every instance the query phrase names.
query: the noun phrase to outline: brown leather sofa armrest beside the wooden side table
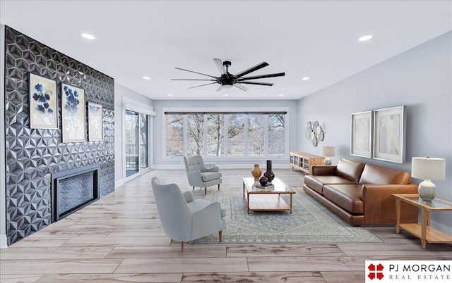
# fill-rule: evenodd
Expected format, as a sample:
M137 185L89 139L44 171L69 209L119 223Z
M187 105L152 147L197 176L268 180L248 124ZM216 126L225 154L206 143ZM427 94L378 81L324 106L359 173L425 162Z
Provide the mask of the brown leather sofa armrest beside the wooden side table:
M392 225L396 223L396 199L391 194L417 194L417 184L363 184L365 225ZM402 209L403 222L417 222L417 208Z

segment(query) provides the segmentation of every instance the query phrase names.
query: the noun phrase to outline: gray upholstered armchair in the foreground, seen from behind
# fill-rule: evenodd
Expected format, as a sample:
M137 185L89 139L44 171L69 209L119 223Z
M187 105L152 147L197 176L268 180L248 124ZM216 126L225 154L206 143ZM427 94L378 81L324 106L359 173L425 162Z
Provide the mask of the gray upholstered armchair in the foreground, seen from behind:
M155 205L165 234L172 241L193 241L218 232L226 227L226 210L220 203L205 199L193 199L191 191L182 191L177 184L160 184L157 177L151 181Z

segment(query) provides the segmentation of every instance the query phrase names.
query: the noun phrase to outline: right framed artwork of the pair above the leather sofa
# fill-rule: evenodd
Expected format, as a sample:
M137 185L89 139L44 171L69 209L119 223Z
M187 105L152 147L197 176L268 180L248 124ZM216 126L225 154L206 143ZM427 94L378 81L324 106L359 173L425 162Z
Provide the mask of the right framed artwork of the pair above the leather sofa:
M374 110L374 158L405 162L406 106Z

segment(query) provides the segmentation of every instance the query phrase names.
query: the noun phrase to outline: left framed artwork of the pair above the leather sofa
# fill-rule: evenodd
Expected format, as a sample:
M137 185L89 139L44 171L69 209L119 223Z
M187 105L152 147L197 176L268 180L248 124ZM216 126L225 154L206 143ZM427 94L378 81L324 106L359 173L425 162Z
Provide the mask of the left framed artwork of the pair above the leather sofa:
M350 154L371 158L372 111L352 113Z

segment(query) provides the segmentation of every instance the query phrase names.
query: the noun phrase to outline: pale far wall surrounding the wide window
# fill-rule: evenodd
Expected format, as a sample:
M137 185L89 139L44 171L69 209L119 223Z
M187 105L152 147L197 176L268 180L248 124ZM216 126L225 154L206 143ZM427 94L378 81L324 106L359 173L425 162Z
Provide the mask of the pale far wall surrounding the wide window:
M213 110L214 108L243 108L244 111L248 108L287 108L287 114L289 118L289 131L292 133L289 138L289 150L297 150L297 101L296 100L266 100L266 101L254 101L254 100L154 100L154 111L157 113L155 116L155 138L154 138L154 165L155 168L184 168L184 160L182 158L164 158L165 146L163 144L162 132L164 129L162 125L164 122L163 110L167 107L175 108L203 108L205 111ZM209 158L203 158L205 162L210 162ZM253 167L255 162L263 164L265 158L222 158L215 161L223 168L250 168ZM289 156L283 158L272 158L274 168L289 168Z

